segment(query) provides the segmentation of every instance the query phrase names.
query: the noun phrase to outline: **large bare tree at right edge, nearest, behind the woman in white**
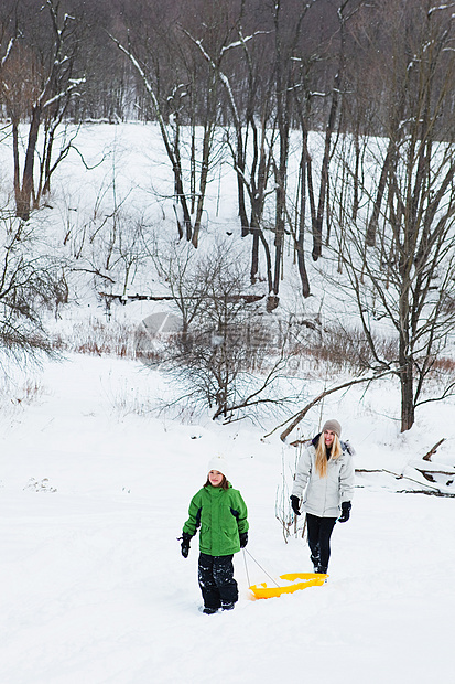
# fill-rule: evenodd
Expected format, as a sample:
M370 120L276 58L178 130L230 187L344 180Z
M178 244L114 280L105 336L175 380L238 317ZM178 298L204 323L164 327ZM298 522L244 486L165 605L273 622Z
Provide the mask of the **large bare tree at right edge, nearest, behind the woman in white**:
M365 141L368 157L382 156L383 163L372 165L371 177L366 175L365 211L356 223L345 226L342 261L373 365L392 368L400 381L404 431L412 427L418 406L446 396L455 387L448 376L444 382L441 378L437 397L424 392L437 372L455 322L455 135L446 117L452 107L455 32L447 8L431 7L426 1L414 7L412 21L398 13L394 19L403 22L403 40L401 58L394 58L390 70L401 73L404 62L407 79L401 82L397 75L389 79L398 88L394 95L389 94L389 101L397 107L389 120L397 121L397 113L403 118L397 128L387 129L386 140ZM347 181L353 182L353 160L339 162L348 169ZM366 245L365 226L376 215L376 241ZM375 344L378 321L394 330L392 362L383 359Z

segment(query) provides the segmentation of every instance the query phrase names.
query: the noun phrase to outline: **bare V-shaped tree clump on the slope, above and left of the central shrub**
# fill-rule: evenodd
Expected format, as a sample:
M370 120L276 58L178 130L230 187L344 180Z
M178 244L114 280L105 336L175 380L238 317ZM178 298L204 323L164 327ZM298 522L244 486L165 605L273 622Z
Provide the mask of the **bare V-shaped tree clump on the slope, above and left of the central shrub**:
M217 9L214 6L210 12L210 20L198 22L197 29L217 51L216 45L224 42L231 28L223 7ZM159 29L151 26L156 36L153 42L138 25L128 34L127 41L111 38L130 60L150 97L172 167L178 235L197 247L213 157L219 161L220 146L215 135L219 124L219 78L217 71L206 64L195 46L201 44L199 35L192 35L187 29L182 31L175 22L170 22L169 35L165 36L163 28L164 24ZM192 36L191 42L185 34Z

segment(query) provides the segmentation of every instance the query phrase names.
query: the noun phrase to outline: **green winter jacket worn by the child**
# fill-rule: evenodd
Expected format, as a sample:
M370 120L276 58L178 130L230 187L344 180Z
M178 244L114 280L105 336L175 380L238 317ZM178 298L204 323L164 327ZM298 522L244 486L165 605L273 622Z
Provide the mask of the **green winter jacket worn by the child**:
M239 533L247 532L247 506L238 490L203 487L191 501L183 532L194 536L201 526L199 551L209 556L230 556L240 551Z

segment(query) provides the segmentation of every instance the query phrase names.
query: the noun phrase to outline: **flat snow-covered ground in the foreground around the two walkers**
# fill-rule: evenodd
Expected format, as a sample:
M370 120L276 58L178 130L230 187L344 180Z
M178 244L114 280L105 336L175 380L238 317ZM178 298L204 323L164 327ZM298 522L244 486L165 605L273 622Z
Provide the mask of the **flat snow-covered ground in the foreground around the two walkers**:
M36 383L18 381L0 418L1 684L453 681L453 499L358 474L327 584L252 601L249 584L311 571L306 542L285 544L275 520L294 448L245 421L139 415L160 381L132 361L74 355L28 373ZM400 436L389 396L324 407L356 468L415 477L410 463L442 437L433 461L453 467L453 404L429 405ZM217 451L249 507L251 555L236 556L236 609L204 616L197 542L185 560L176 537Z

